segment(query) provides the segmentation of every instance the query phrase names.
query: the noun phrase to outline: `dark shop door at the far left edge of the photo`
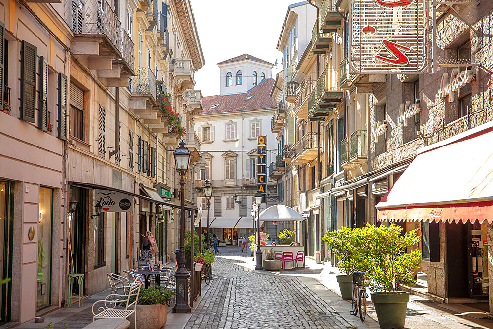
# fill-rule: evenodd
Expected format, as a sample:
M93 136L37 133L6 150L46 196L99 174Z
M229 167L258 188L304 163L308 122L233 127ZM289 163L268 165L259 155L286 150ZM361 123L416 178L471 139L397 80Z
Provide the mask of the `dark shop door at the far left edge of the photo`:
M13 185L0 182L0 280L12 278ZM0 284L0 324L10 321L12 284Z

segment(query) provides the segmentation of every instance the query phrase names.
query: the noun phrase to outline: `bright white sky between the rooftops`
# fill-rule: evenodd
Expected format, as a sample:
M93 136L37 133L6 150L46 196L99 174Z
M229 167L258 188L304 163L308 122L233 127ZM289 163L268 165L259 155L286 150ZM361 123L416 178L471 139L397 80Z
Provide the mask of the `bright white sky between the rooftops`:
M191 0L206 62L195 73L194 88L202 96L218 95L217 63L245 53L271 63L277 59L274 77L282 67L276 45L287 6L297 2L301 0Z

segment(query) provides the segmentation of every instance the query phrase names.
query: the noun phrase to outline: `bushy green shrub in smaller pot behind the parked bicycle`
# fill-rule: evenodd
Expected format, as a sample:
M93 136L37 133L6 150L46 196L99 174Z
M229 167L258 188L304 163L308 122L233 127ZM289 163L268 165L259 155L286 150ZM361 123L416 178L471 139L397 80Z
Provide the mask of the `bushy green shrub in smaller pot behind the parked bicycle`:
M364 265L361 249L361 243L358 243L356 236L361 235L362 229L352 230L349 227L341 227L337 231L326 231L322 237L332 253L339 259L337 267L341 275L337 276L341 297L345 300L352 299L352 274L353 268L365 271L367 266Z

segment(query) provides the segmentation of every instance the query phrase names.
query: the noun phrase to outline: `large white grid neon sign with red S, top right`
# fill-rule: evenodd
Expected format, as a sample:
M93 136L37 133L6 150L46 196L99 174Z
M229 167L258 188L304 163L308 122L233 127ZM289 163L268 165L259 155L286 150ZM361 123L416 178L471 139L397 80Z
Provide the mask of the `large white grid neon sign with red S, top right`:
M350 73L432 73L428 0L352 0Z

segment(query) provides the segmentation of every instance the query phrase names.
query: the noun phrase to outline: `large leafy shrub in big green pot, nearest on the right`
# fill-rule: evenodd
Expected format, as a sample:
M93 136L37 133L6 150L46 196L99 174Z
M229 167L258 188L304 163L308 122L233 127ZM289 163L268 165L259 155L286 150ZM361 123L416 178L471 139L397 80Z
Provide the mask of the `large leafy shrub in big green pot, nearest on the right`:
M367 226L365 251L370 262L368 278L380 328L402 328L406 322L409 292L399 291L401 284L416 284L415 270L421 263L419 249L407 251L418 244L417 230L401 235L396 225Z

